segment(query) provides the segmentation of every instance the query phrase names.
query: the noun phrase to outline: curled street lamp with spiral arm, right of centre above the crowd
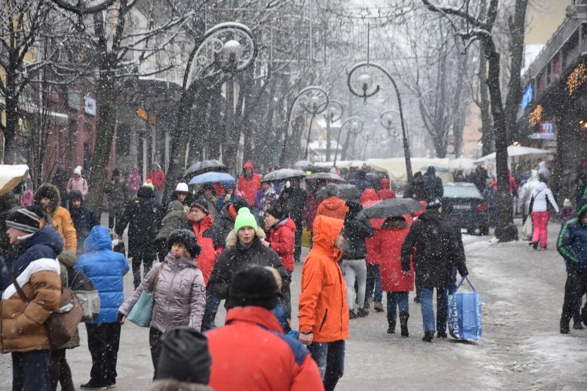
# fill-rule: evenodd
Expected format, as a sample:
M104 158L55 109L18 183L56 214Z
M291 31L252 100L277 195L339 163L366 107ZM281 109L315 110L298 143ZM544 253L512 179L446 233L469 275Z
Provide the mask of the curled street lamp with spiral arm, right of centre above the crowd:
M408 137L407 137L407 133L406 133L406 123L404 121L404 112L402 109L402 98L400 97L400 90L398 89L398 85L395 84L395 81L393 80L393 77L391 77L391 74L389 74L389 72L387 72L387 70L384 67L382 67L381 65L378 65L377 63L372 63L371 61L363 61L361 63L356 63L351 68L350 72L348 72L347 84L349 85L349 89L351 90L351 92L354 95L359 96L360 98L363 98L364 101L367 101L367 98L377 94L379 92L380 87L379 87L379 85L377 85L372 92L367 92L367 90L371 89L371 86L373 85L373 77L368 73L360 74L360 76L358 76L356 78L356 85L358 85L358 87L360 88L359 90L357 90L353 87L353 83L351 82L352 76L357 70L359 70L360 68L363 68L363 67L367 67L367 70L369 70L369 67L373 67L377 70L380 70L385 76L387 76L387 78L389 78L389 81L391 81L391 84L393 85L393 88L395 89L395 96L397 96L397 98L398 98L398 107L400 108L400 121L402 123L402 136L404 138L404 157L406 159L406 173L408 176L408 180L411 181L412 180L412 165L411 165L411 161L410 161L410 147L408 144Z

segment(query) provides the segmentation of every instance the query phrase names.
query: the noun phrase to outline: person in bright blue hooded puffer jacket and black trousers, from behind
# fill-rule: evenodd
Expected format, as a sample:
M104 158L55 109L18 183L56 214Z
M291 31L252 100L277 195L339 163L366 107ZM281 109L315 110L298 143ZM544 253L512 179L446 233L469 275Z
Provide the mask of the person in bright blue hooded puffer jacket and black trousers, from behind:
M112 251L112 240L105 226L94 226L84 242L84 254L74 268L87 275L98 290L100 313L86 322L87 348L92 356L90 380L84 390L103 390L116 384L116 361L121 325L116 314L124 300L123 278L130 267L124 255Z

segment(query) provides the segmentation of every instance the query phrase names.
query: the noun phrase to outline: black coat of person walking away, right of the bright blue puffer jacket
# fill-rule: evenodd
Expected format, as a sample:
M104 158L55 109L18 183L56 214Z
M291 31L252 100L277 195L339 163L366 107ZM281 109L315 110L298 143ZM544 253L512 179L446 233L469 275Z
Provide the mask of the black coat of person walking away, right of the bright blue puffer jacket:
M122 235L128 225L128 257L140 257L144 253L154 255L155 237L163 219L163 209L155 202L154 191L141 187L136 193L138 198L129 201L116 224L116 235Z

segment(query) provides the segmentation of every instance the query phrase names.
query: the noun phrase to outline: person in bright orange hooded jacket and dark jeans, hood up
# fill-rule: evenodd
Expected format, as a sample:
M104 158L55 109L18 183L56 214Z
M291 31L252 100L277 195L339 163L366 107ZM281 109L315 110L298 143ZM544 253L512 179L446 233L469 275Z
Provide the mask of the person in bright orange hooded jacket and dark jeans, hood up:
M336 388L344 372L344 341L349 339L347 284L338 260L342 257L344 220L318 215L313 246L302 268L300 342L318 364L325 390Z

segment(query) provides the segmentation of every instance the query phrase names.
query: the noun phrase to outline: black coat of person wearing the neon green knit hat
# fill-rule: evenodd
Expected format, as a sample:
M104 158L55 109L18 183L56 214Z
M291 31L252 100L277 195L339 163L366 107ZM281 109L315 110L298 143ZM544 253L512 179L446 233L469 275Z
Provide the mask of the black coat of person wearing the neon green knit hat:
M262 230L259 229L259 231ZM245 249L233 231L227 238L227 247L218 255L216 263L214 263L214 269L208 279L207 290L209 293L218 299L227 299L232 275L247 264L276 268L283 280L283 290L289 289L291 277L283 267L279 255L269 247L263 246L258 237L255 237L253 244Z

